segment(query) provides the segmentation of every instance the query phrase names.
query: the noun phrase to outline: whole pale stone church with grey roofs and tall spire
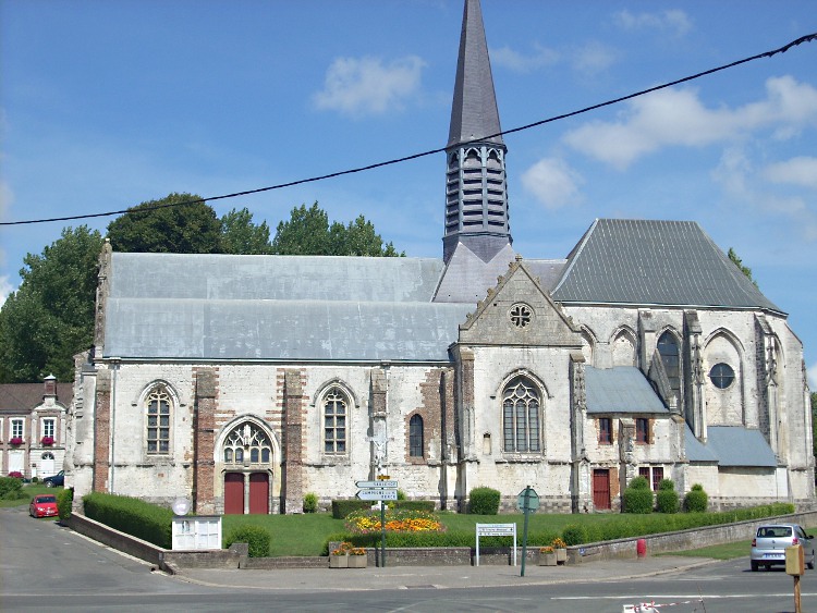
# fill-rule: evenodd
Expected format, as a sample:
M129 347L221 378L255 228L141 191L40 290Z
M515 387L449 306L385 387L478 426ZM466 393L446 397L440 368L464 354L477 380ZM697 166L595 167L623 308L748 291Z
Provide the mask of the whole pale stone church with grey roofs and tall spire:
M76 498L300 513L389 475L440 508L480 486L512 508L531 486L583 513L645 476L715 508L809 504L802 343L697 223L597 219L566 257L513 249L479 0L450 125L441 258L106 244L68 424Z

